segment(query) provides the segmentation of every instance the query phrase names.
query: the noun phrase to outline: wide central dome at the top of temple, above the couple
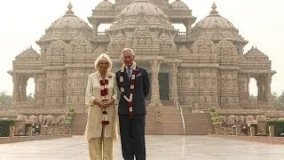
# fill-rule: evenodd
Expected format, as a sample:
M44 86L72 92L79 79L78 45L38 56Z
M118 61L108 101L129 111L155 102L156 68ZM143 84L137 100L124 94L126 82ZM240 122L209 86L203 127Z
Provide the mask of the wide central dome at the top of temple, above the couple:
M139 13L153 16L159 15L164 18L168 18L168 16L163 13L159 7L149 3L147 0L136 0L133 4L128 5L121 12L121 15L138 15Z

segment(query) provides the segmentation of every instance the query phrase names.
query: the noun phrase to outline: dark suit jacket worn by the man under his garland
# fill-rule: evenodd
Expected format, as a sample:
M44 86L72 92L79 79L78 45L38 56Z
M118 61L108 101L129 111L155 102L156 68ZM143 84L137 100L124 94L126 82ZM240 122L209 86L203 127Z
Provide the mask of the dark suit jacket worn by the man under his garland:
M135 115L146 115L146 96L149 93L149 77L145 68L136 67L137 73L135 74L135 86L133 94L133 112ZM121 69L116 71L116 83L120 91L119 79L121 76ZM126 96L130 97L130 80L127 76L126 69L124 69L124 90ZM129 107L127 101L124 100L123 94L120 94L120 100L118 105L118 115L128 115Z

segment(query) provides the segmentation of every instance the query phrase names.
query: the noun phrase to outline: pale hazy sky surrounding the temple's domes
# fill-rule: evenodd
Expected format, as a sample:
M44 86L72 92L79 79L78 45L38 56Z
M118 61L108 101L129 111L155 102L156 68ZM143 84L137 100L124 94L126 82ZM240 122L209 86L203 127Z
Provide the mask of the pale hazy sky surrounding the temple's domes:
M91 10L103 0L6 0L0 4L0 92L12 94L12 60L30 45L38 53L36 44L54 20L67 11L67 4L73 4L75 15L88 22ZM175 0L171 0L173 2ZM272 92L284 91L284 1L283 0L182 0L197 17L203 19L211 11L211 4L217 4L217 11L239 28L241 36L248 40L247 52L252 45L264 52L272 60ZM114 2L114 0L111 0ZM91 26L91 25L90 25ZM194 25L193 25L194 26ZM181 28L182 29L182 28ZM27 94L34 92L34 82L28 81ZM250 81L249 87L256 95L256 82Z

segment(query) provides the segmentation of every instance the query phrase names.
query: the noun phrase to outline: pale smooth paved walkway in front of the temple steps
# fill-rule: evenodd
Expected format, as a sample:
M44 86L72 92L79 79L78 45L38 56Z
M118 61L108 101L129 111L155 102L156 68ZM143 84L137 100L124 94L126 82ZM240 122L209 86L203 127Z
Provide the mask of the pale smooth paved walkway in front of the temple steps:
M146 136L147 160L283 160L284 145L208 136ZM0 160L88 160L83 136L0 144ZM114 142L114 160L122 160Z

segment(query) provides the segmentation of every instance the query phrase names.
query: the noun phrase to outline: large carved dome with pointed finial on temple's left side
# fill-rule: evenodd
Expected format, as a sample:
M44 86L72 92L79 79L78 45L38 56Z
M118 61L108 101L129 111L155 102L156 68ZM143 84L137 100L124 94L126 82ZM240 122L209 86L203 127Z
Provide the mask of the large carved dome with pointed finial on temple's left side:
M71 10L72 4L69 3L67 8L66 14L55 20L50 28L45 30L45 35L39 41L36 41L37 44L58 39L72 41L77 36L91 37L92 31L88 23L75 16Z

